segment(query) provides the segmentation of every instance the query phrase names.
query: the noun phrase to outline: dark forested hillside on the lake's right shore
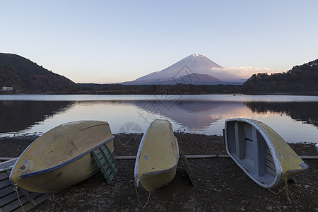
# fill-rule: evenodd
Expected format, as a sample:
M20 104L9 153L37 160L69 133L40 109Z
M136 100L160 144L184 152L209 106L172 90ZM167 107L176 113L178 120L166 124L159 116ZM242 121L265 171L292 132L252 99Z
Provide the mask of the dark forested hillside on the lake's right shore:
M243 93L318 93L318 59L294 66L286 73L253 74L242 86Z

